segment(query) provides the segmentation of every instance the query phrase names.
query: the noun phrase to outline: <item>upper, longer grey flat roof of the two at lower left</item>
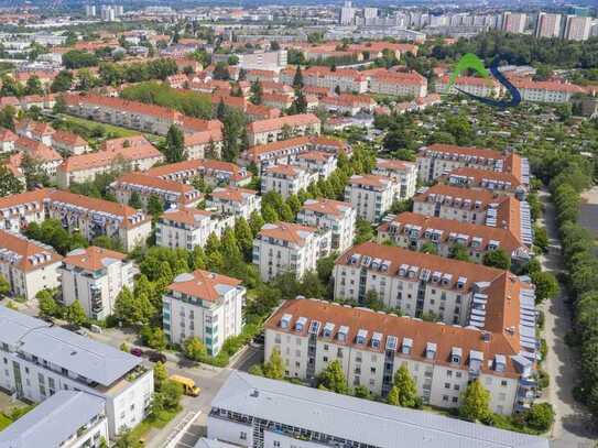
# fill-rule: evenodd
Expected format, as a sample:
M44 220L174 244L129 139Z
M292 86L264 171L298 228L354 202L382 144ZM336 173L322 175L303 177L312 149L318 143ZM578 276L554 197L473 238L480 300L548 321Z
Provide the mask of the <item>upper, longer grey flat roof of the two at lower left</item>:
M9 323L15 334L8 332L4 323ZM0 342L4 341L104 386L109 386L142 362L106 343L0 306Z

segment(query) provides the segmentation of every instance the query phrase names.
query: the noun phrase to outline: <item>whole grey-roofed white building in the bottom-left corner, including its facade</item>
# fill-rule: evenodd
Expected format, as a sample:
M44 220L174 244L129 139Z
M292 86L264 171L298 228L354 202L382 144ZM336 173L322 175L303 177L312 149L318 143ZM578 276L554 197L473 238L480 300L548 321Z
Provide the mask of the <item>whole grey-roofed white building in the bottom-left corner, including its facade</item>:
M104 400L58 391L0 433L1 447L100 448L108 441Z

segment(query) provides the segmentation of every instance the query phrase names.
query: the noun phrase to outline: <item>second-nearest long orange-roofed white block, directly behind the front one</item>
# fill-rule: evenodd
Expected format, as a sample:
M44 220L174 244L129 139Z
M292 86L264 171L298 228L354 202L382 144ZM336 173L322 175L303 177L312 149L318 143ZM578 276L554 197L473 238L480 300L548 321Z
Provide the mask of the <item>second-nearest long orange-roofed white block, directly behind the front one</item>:
M474 325L475 299L502 301L507 271L438 255L366 242L350 248L335 264L335 297L363 303L370 291L389 308L424 315L447 325ZM478 317L475 317L476 325ZM481 319L483 324L483 319Z

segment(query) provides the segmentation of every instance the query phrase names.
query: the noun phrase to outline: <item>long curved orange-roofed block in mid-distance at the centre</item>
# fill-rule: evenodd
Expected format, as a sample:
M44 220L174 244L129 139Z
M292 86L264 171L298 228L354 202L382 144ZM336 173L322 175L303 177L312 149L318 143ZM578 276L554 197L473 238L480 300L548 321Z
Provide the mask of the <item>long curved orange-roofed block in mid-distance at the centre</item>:
M351 154L351 149L341 140L329 139L325 136L296 136L294 139L275 141L272 143L252 146L241 153L239 164L249 166L253 164L258 172L273 165L291 165L300 154L318 151L345 155Z

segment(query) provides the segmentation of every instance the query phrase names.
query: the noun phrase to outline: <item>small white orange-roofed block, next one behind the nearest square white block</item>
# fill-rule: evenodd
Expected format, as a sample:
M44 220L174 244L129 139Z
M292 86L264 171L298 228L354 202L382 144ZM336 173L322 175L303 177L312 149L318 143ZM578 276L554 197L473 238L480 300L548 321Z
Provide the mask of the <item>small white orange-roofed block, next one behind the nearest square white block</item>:
M167 210L157 221L155 243L171 249L203 248L211 233L220 237L227 227L235 227L235 216L219 216L192 207Z

